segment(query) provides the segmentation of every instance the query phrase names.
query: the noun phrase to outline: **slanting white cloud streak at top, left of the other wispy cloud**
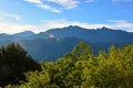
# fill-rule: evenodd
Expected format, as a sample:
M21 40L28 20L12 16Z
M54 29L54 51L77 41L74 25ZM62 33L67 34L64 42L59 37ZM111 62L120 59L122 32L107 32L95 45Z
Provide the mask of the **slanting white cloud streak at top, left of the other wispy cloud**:
M24 0L27 2L35 3L37 7L54 12L54 13L60 13L61 11L59 9L52 8L51 6L44 4L42 0Z

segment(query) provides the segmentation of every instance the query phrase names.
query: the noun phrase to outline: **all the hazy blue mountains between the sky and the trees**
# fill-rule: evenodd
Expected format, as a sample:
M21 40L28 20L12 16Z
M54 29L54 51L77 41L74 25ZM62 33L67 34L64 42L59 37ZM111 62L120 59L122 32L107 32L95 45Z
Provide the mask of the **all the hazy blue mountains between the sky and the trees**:
M106 51L112 44L122 46L133 43L133 33L105 26L92 30L70 25L63 29L48 30L39 34L31 31L12 35L0 34L0 46L12 42L19 43L37 61L54 61L70 52L81 41L90 44L94 54L98 54L100 50Z

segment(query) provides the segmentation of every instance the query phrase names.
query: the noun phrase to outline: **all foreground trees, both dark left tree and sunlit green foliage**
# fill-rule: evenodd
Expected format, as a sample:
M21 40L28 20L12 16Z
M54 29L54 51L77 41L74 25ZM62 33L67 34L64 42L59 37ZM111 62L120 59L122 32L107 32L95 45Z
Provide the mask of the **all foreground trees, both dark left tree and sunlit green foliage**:
M55 62L35 62L19 44L0 47L1 88L133 88L133 44L108 52L81 42Z

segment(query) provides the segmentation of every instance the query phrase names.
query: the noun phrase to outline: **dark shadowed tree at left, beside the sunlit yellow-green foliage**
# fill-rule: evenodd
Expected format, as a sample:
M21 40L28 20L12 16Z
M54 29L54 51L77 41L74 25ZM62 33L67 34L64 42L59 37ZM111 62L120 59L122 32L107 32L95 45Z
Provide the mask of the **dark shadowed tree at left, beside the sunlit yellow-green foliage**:
M23 73L37 69L41 69L40 65L19 44L0 48L0 86L19 84L27 79Z

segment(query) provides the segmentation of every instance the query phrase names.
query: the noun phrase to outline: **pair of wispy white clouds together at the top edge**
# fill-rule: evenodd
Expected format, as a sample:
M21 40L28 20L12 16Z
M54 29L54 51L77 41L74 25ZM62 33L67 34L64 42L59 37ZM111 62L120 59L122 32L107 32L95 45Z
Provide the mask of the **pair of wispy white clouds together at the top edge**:
M27 2L30 3L34 3L35 7L39 7L41 9L54 12L54 13L60 13L62 11L62 9L73 9L75 7L78 7L78 4L80 3L79 0L24 0ZM47 3L57 3L60 4L60 8L54 8L50 4Z

